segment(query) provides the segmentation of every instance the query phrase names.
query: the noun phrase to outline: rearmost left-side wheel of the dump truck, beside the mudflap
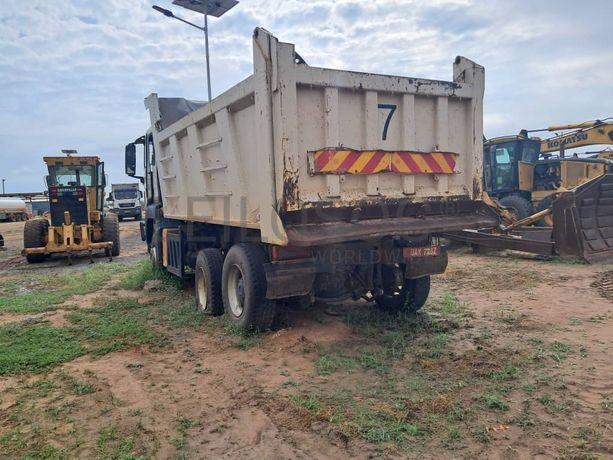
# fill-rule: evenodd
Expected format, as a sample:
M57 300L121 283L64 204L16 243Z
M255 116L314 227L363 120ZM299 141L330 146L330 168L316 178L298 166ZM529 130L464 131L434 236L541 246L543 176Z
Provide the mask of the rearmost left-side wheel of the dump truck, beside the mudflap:
M268 261L257 244L240 243L226 255L222 273L223 304L228 320L244 331L267 330L276 316L276 303L266 299Z

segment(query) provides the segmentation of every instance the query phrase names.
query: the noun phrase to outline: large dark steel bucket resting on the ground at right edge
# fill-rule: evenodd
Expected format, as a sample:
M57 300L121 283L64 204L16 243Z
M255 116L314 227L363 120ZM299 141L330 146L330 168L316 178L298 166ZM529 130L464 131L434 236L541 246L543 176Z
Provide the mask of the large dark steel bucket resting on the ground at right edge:
M560 194L552 209L553 240L560 256L613 262L613 174Z

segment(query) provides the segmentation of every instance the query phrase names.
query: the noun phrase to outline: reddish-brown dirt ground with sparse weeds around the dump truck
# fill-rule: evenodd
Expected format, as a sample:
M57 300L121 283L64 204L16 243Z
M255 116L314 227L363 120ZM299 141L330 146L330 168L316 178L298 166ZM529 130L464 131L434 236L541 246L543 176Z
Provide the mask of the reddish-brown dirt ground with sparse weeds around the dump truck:
M89 267L28 266L21 225L0 224L3 283ZM138 224L121 231L113 263L142 270ZM133 302L126 318L164 335L35 371L0 367L9 457L613 456L613 266L455 249L417 319L383 321L364 302L289 305L276 331L252 336L188 313L189 286L118 286L132 276L122 270L42 313L0 308L0 327L68 331L75 312Z

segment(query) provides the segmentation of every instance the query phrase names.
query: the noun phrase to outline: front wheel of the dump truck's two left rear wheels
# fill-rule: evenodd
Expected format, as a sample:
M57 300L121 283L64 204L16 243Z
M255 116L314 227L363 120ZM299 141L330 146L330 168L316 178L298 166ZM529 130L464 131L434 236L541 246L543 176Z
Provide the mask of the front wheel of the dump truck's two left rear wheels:
M196 307L205 315L223 314L222 270L223 257L219 249L206 248L198 251L195 274Z

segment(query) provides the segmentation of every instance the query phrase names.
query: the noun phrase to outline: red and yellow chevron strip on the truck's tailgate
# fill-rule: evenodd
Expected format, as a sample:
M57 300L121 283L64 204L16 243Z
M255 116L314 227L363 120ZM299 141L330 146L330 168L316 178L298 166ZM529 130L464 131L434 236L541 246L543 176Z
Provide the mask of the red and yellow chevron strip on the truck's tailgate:
M457 153L323 149L309 152L311 174L453 174Z

